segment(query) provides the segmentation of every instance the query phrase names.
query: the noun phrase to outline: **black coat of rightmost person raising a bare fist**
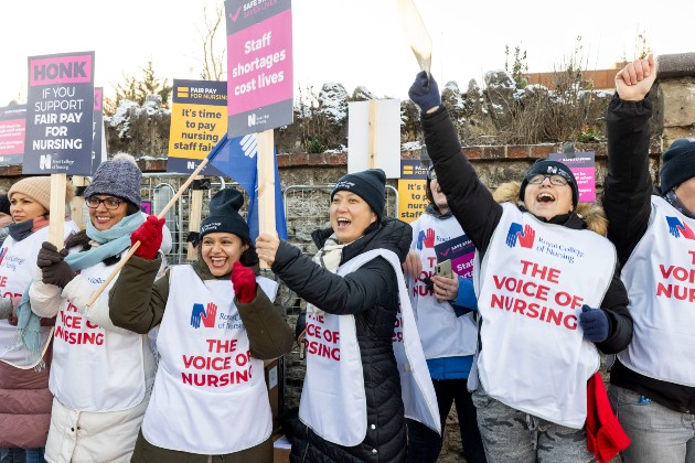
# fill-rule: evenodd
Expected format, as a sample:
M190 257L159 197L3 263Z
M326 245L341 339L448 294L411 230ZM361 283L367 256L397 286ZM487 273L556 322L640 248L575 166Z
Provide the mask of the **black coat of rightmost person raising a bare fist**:
M608 112L608 176L603 187L603 208L610 220L608 238L616 245L624 265L640 243L652 212L652 194L663 196L652 183L649 168L649 120L652 101L623 101L613 96ZM673 359L682 362L682 359ZM695 411L695 388L653 379L617 360L610 383L646 396L681 413Z

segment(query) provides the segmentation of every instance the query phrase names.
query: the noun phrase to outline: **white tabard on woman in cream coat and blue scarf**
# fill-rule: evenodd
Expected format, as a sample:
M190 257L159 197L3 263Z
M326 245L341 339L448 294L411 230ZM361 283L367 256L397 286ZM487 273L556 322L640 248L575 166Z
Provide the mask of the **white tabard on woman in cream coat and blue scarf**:
M113 266L99 262L82 270L81 276L96 291L113 270ZM51 392L73 410L118 411L137 406L146 391L142 343L147 342L146 334L104 330L63 299L53 332Z

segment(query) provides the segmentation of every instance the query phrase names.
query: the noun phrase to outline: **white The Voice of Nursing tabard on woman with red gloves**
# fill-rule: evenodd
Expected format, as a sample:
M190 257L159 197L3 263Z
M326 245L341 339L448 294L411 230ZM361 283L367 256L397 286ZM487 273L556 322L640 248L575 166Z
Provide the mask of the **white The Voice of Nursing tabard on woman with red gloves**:
M277 283L267 278L256 281L274 300ZM202 281L191 266L172 268L157 347L159 369L142 421L148 442L220 455L270 437L264 364L250 357L228 280Z

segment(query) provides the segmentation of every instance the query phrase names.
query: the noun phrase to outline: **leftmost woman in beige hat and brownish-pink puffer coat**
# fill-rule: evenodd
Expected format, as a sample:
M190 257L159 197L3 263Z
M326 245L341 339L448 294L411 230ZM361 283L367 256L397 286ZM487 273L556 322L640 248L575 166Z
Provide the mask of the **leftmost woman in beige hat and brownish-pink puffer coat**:
M74 193L67 183L66 203ZM54 320L31 316L26 290L38 271L41 244L49 239L51 177L22 179L8 198L13 223L0 248L0 461L40 462L51 418ZM64 236L77 230L65 220Z

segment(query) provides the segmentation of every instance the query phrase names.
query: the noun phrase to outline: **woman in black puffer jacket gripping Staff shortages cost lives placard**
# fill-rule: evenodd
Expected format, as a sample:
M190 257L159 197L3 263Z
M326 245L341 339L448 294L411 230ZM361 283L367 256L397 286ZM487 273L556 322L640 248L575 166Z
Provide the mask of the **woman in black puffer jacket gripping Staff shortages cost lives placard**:
M404 462L406 416L440 432L400 269L413 232L384 217L385 183L381 169L338 181L313 259L269 234L256 240L258 257L307 301L301 422L286 429L292 461Z

